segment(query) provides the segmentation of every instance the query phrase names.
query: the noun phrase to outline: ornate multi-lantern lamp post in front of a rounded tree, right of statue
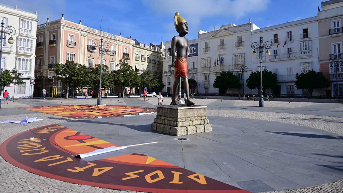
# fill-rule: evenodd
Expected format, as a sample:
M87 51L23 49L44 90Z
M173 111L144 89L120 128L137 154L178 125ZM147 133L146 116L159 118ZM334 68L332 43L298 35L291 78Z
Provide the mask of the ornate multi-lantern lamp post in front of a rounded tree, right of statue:
M264 50L267 49L267 51L265 52L265 55L269 56L270 55L270 52L268 49L270 49L272 47L272 43L267 41L267 42L264 42L262 44L262 39L260 39L260 43L258 42L254 42L251 44L251 48L254 50L252 52L252 55L253 56L256 56L257 53L259 53L259 56L260 56L260 72L261 72L261 98L260 98L260 101L259 101L259 106L260 107L263 107L264 106L264 100L263 100L263 89L262 89L262 57L263 57L263 53L264 53ZM256 52L257 51L257 52Z

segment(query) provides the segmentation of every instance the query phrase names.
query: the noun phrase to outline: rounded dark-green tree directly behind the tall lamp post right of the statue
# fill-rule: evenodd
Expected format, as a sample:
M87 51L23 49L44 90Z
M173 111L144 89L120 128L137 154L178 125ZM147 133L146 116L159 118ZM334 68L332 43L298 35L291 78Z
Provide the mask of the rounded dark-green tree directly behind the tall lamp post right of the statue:
M249 89L257 89L261 86L261 72L251 72L249 78L246 80ZM273 89L277 85L277 75L267 69L262 71L262 87L265 89Z

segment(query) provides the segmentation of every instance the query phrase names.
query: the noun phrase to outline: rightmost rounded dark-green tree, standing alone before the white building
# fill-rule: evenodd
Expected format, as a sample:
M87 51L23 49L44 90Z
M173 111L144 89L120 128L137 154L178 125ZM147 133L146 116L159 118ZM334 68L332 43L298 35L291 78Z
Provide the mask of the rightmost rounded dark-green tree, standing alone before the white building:
M312 95L313 89L327 88L329 82L322 72L316 72L312 69L296 77L295 86L298 89L307 89Z

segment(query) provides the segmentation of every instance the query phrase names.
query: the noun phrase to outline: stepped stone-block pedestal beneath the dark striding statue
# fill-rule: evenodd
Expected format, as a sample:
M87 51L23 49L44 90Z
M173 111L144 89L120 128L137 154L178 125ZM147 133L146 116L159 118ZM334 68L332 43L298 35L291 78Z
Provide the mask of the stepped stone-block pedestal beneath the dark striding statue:
M207 106L158 105L151 130L170 135L191 135L212 131Z

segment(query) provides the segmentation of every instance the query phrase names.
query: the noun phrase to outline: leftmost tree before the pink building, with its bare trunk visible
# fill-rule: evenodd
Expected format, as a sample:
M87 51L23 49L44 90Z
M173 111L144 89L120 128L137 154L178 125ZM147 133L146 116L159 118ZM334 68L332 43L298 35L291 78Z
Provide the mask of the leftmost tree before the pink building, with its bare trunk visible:
M58 80L62 80L67 83L66 98L69 98L69 86L74 84L74 81L77 81L78 77L78 63L74 61L66 61L66 64L55 64L55 73Z

